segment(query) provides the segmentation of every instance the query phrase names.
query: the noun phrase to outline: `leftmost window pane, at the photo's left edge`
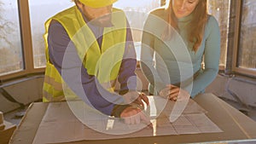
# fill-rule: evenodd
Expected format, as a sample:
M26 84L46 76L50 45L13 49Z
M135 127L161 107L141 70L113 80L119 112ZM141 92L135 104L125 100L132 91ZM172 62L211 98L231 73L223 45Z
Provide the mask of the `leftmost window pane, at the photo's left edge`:
M16 0L0 0L0 76L24 69Z

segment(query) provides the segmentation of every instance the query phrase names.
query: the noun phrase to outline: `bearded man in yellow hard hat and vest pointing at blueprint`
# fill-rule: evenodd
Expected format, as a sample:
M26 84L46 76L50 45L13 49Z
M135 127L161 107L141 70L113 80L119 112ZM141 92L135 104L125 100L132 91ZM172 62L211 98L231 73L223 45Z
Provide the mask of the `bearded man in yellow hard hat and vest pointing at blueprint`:
M113 9L116 1L74 0L75 6L45 22L43 101L79 97L108 116L125 118L126 124L149 124L142 112L148 98L136 88L131 30L125 13ZM119 95L113 91L116 80Z

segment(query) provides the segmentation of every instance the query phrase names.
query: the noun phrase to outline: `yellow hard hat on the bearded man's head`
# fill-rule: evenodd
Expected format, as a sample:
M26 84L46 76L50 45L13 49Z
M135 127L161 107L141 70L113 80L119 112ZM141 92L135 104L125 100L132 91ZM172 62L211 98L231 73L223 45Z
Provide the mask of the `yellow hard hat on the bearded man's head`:
M84 5L91 8L102 8L115 3L118 0L79 0Z

